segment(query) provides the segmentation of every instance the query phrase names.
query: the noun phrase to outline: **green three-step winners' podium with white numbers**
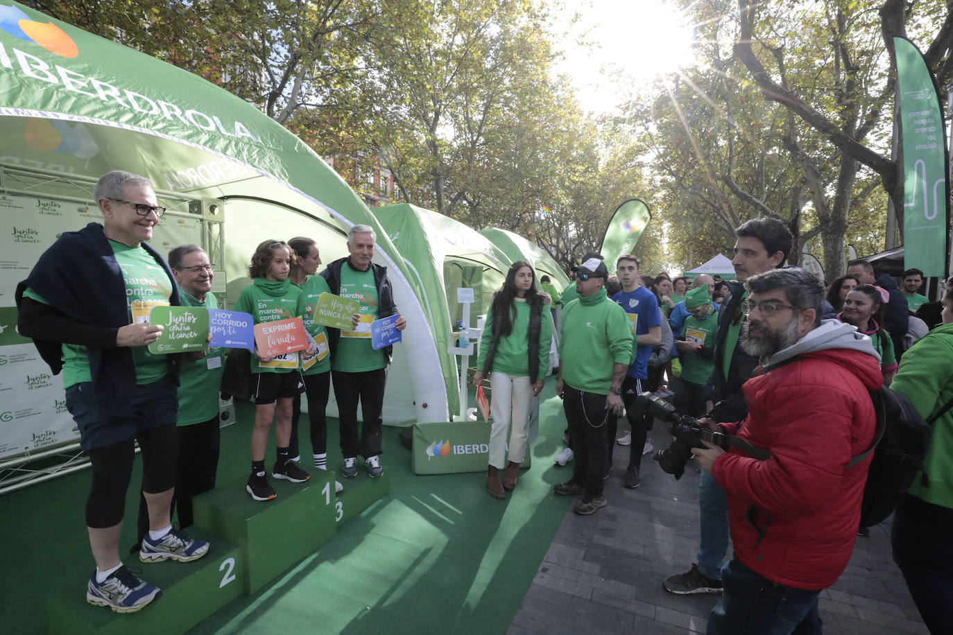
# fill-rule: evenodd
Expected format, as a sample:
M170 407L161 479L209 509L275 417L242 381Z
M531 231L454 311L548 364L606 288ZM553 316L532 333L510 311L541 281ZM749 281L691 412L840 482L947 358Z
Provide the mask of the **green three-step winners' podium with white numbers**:
M181 633L242 593L252 594L312 555L335 536L337 527L390 491L385 472L376 479L360 473L344 479L335 493L335 473L312 470L305 483L272 479L277 496L253 501L245 478L196 496L190 536L211 543L209 553L191 563L164 561L127 565L142 568L142 579L162 596L135 613L119 614L87 604L82 587L48 600L51 633Z

